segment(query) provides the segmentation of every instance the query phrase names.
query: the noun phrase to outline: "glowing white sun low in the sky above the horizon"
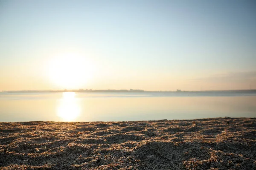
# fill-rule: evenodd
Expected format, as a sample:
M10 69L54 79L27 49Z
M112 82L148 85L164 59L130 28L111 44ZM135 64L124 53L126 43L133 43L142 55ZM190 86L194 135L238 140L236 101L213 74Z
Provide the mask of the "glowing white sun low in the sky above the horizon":
M82 88L93 77L93 72L92 62L76 54L53 57L49 62L49 78L59 88Z

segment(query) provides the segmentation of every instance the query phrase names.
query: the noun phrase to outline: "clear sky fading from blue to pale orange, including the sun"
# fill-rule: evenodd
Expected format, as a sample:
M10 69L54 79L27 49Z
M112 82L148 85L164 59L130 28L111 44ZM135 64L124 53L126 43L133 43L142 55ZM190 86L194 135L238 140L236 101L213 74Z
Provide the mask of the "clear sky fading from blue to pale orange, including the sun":
M0 91L256 89L255 0L0 0Z

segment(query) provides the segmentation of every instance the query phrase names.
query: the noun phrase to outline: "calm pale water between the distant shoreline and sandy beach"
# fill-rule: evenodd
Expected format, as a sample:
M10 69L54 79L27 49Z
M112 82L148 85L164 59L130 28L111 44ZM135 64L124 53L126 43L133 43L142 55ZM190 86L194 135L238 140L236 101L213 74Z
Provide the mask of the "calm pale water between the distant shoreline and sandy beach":
M0 122L256 117L253 93L0 93Z

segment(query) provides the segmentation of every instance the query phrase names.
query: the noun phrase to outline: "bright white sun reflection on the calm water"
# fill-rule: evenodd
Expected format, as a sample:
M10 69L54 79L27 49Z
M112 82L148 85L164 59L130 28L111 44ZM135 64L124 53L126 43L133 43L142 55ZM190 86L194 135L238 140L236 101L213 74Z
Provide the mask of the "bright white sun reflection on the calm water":
M61 117L63 121L74 121L81 112L80 105L76 99L75 92L64 92L62 99L60 99L57 115Z

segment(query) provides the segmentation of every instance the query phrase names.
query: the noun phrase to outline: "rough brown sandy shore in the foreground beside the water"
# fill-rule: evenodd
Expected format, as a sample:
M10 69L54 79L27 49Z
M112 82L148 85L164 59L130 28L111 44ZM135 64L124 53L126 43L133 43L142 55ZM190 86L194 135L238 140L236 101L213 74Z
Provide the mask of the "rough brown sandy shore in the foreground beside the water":
M0 123L0 169L256 170L256 119Z

